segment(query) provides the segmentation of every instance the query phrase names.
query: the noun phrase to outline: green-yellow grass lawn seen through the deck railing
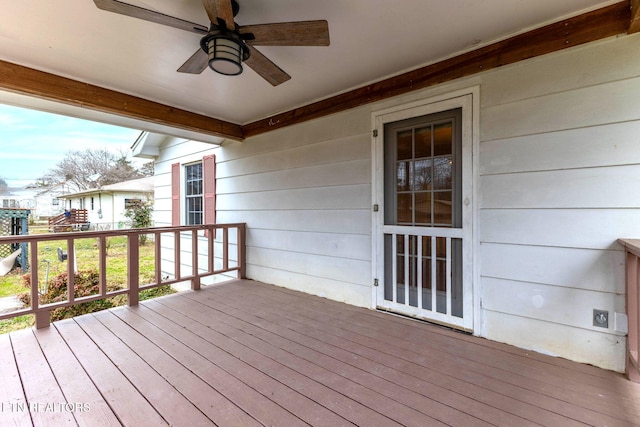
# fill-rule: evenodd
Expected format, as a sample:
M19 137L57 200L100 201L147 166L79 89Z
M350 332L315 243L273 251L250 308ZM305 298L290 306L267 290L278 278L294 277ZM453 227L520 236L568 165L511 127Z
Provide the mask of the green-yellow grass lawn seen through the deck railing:
M77 271L99 271L99 249L96 238L77 239L75 241L75 260ZM109 237L106 241L107 266L106 277L109 286L124 288L127 283L127 238L124 236ZM67 272L68 261L58 259L58 248L68 254L66 240L40 242L38 244L38 289L44 294L52 280L61 273ZM153 242L140 246L140 284L155 281L155 248ZM28 282L26 282L28 283ZM0 277L0 298L28 293L21 271L12 271ZM168 287L141 292L140 299L153 298L170 293ZM122 304L125 298L119 298ZM33 325L32 315L0 321L0 333L23 329Z

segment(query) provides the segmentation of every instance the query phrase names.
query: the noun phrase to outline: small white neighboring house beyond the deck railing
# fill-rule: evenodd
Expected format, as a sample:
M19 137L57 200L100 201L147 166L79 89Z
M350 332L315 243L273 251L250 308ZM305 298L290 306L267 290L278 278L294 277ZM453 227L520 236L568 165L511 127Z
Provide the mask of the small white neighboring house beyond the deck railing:
M62 196L64 208L86 209L92 228L112 230L125 228L130 220L127 206L137 201L153 201L154 177L133 179L92 190Z

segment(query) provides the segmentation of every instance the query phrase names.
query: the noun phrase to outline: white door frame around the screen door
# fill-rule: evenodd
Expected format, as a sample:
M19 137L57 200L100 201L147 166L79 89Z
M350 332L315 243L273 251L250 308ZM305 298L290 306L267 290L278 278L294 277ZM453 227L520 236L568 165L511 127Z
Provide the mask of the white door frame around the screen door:
M380 295L383 293L384 279L384 126L414 117L426 116L455 108L462 109L462 208L464 239L463 243L463 320L454 325L458 328L479 333L480 325L480 274L478 268L479 238L478 238L478 182L479 182L479 112L480 88L474 86L398 105L384 110L374 111L372 122L372 275L374 286L371 291L372 308L379 307Z

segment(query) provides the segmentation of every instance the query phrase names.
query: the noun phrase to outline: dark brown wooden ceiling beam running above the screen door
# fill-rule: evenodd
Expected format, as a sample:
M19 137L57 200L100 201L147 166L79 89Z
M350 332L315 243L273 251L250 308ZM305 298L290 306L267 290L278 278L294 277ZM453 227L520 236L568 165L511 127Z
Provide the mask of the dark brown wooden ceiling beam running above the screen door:
M640 3L640 0L631 0ZM634 13L638 20L638 12ZM304 107L243 126L250 137L503 65L626 33L629 1L547 25L471 52L419 68ZM640 25L640 23L638 23Z

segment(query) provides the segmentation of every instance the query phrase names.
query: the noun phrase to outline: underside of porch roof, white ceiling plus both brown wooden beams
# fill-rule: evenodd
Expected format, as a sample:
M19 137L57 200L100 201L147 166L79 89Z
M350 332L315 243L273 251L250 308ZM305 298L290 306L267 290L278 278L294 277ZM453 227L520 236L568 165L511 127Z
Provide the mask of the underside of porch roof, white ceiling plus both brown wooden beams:
M126 2L209 24L197 0ZM0 102L219 143L640 27L640 0L238 2L241 25L327 20L330 46L260 47L292 77L273 87L251 69L176 72L189 31L89 0L3 2Z

